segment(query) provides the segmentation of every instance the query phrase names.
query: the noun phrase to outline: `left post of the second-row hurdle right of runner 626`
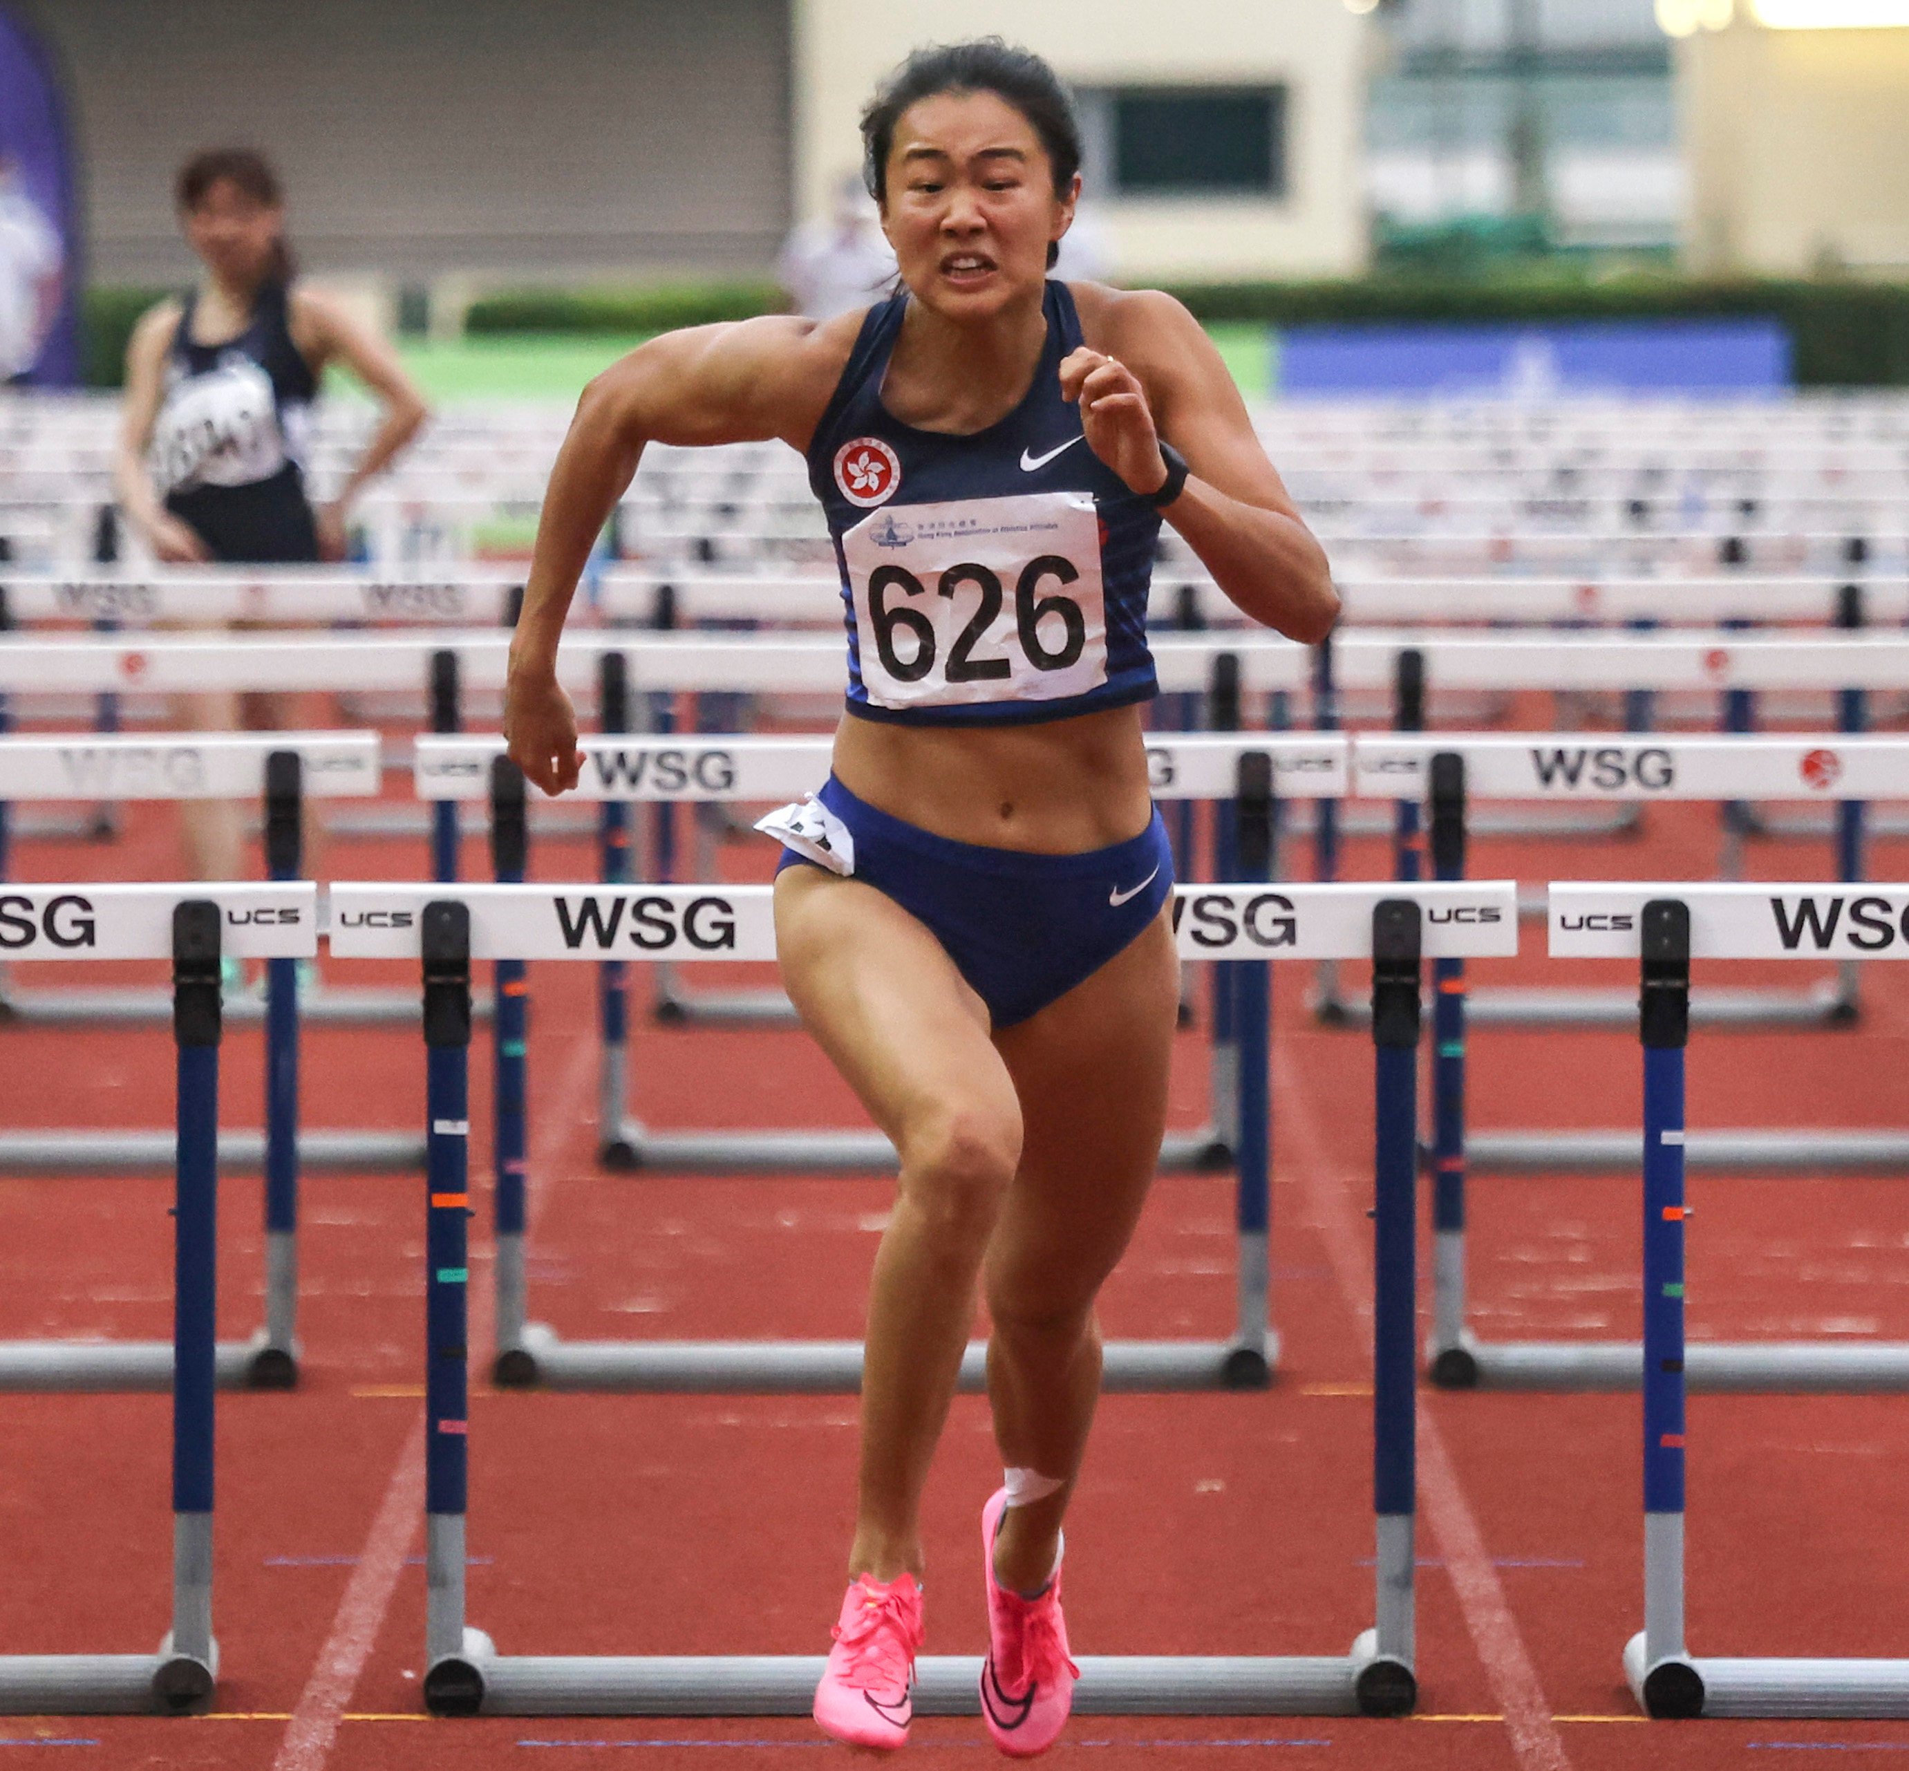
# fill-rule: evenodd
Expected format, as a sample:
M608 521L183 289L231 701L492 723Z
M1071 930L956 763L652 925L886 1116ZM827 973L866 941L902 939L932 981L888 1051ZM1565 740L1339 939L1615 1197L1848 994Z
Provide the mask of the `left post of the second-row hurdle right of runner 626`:
M1428 782L1432 878L1462 880L1464 758L1432 756ZM1464 1328L1464 960L1432 962L1432 1382L1478 1384Z

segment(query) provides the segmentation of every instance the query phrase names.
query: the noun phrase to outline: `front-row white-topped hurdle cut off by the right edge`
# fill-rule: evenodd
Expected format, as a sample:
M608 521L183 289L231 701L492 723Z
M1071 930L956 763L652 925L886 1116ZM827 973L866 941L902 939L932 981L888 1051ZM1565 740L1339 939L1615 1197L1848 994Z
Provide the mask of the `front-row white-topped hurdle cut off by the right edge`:
M1796 958L1804 906L1825 905L1836 906L1821 914L1840 954L1909 958L1909 886L1859 895L1840 884L1550 887L1552 954L1630 958L1642 981L1644 1630L1625 1645L1623 1664L1649 1716L1909 1716L1909 1660L1710 1658L1693 1656L1684 1641L1684 1397L1710 1351L1684 1338L1689 962ZM1901 1387L1909 1347L1865 1351L1896 1366L1882 1387Z

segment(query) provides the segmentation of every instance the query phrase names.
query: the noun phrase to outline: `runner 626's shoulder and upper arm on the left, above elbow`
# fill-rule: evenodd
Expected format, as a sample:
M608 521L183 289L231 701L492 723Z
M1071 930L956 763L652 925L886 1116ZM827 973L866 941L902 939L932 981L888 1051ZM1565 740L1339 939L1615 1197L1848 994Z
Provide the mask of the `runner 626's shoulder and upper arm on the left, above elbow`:
M592 382L647 443L806 448L855 347L861 315L764 315L664 332Z

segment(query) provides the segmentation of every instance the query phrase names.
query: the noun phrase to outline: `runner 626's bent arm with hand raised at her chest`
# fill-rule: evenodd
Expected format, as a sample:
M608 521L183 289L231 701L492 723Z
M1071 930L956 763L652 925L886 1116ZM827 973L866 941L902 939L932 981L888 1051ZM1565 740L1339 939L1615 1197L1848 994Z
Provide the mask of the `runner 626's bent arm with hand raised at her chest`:
M1092 450L1136 492L1153 492L1164 479L1159 439L1172 443L1193 471L1166 521L1254 620L1308 645L1325 639L1338 620L1332 569L1199 321L1172 296L1136 290L1109 298L1096 330L1115 347L1061 365Z

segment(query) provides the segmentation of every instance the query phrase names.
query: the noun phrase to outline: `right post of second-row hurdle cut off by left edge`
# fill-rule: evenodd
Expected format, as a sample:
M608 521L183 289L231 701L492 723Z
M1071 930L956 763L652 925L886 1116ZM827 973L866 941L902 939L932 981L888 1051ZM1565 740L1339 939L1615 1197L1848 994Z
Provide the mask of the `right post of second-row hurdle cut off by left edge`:
M304 872L305 784L296 750L265 758L265 878ZM298 960L265 960L265 1328L246 1378L298 1384Z

